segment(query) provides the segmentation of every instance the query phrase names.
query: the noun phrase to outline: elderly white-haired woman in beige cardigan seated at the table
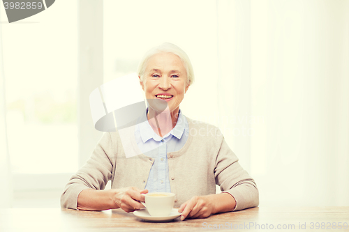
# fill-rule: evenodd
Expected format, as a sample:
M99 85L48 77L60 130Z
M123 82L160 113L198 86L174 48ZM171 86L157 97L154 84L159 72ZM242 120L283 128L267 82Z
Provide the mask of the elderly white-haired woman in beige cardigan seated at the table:
M194 80L186 53L170 43L154 47L140 62L138 77L149 106L130 139L142 154L126 158L119 132L106 132L70 178L61 207L132 212L144 208L140 201L147 192L176 194L181 220L258 206L255 182L220 130L179 109ZM166 109L157 101L166 102ZM112 189L104 190L108 180ZM223 192L216 194L216 185Z

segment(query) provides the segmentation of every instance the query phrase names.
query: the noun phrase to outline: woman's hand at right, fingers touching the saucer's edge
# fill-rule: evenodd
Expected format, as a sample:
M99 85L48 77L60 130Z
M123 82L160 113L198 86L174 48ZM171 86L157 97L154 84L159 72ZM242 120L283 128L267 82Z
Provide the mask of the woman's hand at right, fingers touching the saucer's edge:
M205 218L215 212L215 203L211 195L193 196L190 200L181 204L178 212L181 212L181 220L186 218Z

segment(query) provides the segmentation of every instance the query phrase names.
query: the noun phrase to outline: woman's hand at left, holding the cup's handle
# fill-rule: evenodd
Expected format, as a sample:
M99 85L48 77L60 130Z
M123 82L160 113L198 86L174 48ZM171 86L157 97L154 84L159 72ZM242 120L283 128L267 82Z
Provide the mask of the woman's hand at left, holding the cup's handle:
M114 201L116 208L121 208L125 212L133 212L144 208L140 202L144 202L143 194L146 194L148 190L139 190L137 187L124 187L110 191L114 192L112 201Z

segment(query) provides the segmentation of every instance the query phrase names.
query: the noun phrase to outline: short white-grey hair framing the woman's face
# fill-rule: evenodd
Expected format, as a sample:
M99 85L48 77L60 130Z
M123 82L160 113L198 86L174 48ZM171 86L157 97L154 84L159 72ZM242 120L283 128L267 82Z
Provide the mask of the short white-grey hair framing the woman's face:
M181 61L184 63L184 67L186 68L186 75L188 77L187 82L189 85L192 85L194 83L194 70L193 70L193 66L191 65L191 60L189 59L189 56L180 47L170 42L164 42L162 45L158 47L151 48L143 56L137 68L137 74L140 77L140 81L142 82L144 79L145 68L147 68L147 64L151 56L154 56L155 54L158 54L161 52L172 53L179 56Z

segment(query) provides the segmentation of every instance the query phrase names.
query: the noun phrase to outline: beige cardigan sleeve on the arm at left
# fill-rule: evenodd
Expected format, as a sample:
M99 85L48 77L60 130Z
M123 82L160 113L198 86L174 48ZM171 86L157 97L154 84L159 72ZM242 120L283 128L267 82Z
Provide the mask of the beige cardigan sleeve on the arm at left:
M61 208L77 210L77 196L82 190L104 190L108 180L112 178L113 162L109 155L112 150L110 133L105 132L89 160L70 178L64 188Z

